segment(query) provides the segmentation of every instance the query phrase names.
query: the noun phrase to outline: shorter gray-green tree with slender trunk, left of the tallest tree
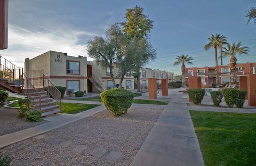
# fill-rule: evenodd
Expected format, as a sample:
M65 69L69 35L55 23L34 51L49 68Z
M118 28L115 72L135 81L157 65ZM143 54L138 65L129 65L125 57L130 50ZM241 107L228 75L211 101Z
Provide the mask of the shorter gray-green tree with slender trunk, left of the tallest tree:
M106 30L106 40L102 37L95 36L93 40L88 41L88 55L95 59L97 65L104 68L109 67L110 77L116 87L114 79L114 63L118 63L118 50L121 49L125 41L125 34L118 24L113 24Z

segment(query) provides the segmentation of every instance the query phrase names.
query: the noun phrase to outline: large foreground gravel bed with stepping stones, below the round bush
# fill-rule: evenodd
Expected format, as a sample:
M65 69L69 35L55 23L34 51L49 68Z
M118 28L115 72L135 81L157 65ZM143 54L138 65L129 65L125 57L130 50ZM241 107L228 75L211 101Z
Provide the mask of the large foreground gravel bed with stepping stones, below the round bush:
M162 109L131 108L114 117L105 110L0 151L12 156L12 166L128 166L161 113ZM100 158L89 154L98 148L107 152ZM107 160L112 151L121 157Z

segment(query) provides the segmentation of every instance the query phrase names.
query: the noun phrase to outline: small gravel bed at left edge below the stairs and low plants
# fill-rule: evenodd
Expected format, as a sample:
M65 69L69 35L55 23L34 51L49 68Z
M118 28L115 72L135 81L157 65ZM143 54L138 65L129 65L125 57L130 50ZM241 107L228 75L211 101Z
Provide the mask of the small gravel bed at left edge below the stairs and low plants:
M29 122L26 120L26 118L18 117L17 109L7 109L4 107L0 108L0 136L23 130L25 128L37 126L46 122L47 121Z

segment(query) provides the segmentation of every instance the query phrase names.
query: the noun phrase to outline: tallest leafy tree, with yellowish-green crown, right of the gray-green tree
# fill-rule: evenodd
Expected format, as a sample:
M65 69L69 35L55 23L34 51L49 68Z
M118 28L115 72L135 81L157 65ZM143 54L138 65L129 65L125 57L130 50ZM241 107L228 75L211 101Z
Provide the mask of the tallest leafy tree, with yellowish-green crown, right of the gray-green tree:
M140 92L140 69L156 57L156 50L152 47L149 41L149 34L153 28L153 21L148 19L143 13L144 8L134 6L126 9L125 22L121 25L124 27L124 32L128 34L129 39L138 40L140 49L144 50L140 55L135 57L134 77L137 79L138 92Z

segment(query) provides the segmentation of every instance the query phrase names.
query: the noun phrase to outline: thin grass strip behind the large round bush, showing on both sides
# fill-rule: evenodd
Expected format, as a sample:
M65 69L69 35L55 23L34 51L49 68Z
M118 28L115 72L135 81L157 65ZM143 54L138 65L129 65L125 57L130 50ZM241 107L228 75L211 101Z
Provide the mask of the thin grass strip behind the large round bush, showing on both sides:
M88 97L83 99L72 99L78 101L102 101L100 96ZM156 104L156 105L167 105L168 102L155 101L155 100L143 100L143 99L133 99L132 103L136 104Z

